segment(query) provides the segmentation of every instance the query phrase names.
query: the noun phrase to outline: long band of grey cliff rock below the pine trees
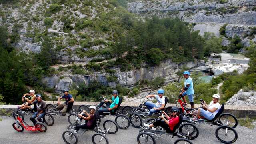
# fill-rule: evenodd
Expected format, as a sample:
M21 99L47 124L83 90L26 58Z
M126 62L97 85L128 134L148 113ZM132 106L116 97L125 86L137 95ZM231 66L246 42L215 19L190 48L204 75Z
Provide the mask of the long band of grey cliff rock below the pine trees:
M47 87L55 89L55 92L61 92L64 88L68 88L71 84L84 83L90 84L91 81L96 80L105 86L116 87L116 84L121 86L133 87L134 84L140 80L153 80L156 77L165 78L165 84L170 82L178 81L179 76L176 74L183 66L187 68L196 68L198 66L205 66L204 60L197 60L194 62L187 62L185 64L176 64L172 60L166 60L161 62L159 66L142 67L140 69L134 69L127 72L121 72L120 68L114 68L116 73L114 76L117 77L116 82L109 82L107 80L108 73L104 72L93 72L90 75L82 74L60 74L60 76L45 77L42 82Z

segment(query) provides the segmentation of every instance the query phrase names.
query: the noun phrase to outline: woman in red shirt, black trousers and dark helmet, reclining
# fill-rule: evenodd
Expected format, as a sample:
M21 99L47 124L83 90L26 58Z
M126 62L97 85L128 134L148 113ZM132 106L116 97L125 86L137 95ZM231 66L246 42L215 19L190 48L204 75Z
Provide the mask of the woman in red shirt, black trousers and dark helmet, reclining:
M144 126L148 129L152 129L152 130L156 130L156 128L154 128L154 126L161 126L162 128L164 128L166 130L166 132L168 133L173 133L173 128L174 126L176 126L176 124L179 123L179 114L180 114L180 110L177 107L172 107L171 108L171 112L172 114L170 116L168 116L164 111L162 111L163 114L166 116L166 118L168 120L166 120L166 118L164 118L164 116L160 116L160 120L156 120L156 122L154 122L153 124L146 124L144 123Z

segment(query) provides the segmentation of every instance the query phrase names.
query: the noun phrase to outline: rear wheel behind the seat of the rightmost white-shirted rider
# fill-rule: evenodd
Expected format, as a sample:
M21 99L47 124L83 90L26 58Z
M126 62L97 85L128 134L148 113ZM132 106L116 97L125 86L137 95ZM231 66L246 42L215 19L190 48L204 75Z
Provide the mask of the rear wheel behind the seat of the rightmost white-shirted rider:
M229 114L229 113L221 114L218 122L222 125L231 126L232 128L236 128L236 126L238 124L236 116L234 116L233 114Z

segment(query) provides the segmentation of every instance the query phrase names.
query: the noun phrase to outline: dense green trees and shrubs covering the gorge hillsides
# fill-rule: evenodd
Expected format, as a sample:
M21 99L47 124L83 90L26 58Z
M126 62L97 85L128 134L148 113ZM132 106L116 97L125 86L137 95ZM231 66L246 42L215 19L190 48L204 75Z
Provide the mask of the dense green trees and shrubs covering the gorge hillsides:
M27 86L33 87L36 92L40 93L54 92L53 88L46 88L42 83L42 78L59 74L62 71L71 70L72 74L84 75L92 74L92 71L102 71L108 73L106 79L109 82L115 82L117 78L114 76L116 71L112 69L113 66L119 67L121 71L129 71L140 68L143 63L146 63L146 66L154 66L166 59L183 63L221 52L221 38L210 33L202 37L198 31L192 30L192 24L182 22L178 18L138 18L124 8L128 2L132 1L43 0L36 11L30 14L33 4L36 3L35 0L0 0L3 5L3 9L0 10L2 20L0 26L0 101L7 104L20 103L20 97L27 92ZM17 8L22 18L12 17L12 12L8 8ZM80 18L76 11L85 16ZM57 28L56 22L63 23L63 26ZM26 34L23 36L30 38L32 42L42 42L38 54L18 51L13 47L22 38L20 34L23 23L27 24ZM8 32L8 28L11 32ZM60 29L67 34L48 33L48 28ZM224 35L225 27L220 32ZM250 35L254 33L253 29ZM229 52L237 52L241 48L240 41L239 38L234 38L226 49ZM98 49L93 47L98 47ZM243 75L244 77L239 75L241 79L253 75L256 71L254 49L249 48L250 68L248 73ZM85 66L60 66L58 70L50 68L58 63L58 58L62 54L69 58L78 56L93 59ZM110 60L112 58L116 60ZM108 62L97 63L103 60L108 60ZM196 102L216 92L214 89L209 89L214 84L200 82L196 78L199 77L197 75L192 77L196 83ZM60 76L61 78L63 77ZM232 83L233 79L236 80L232 75L221 78L221 80L228 81L222 88L225 100L236 91L236 88L253 86L249 85L252 84L253 79L248 79L246 83L241 83L242 81ZM140 92L143 86L158 89L163 83L163 78L156 78L151 81L140 81L132 90L122 88L119 84L116 89L121 96L133 97ZM238 83L239 86L232 87ZM175 86L180 87L180 84L170 84L166 90L178 92ZM71 93L74 94L76 100L98 100L102 94L108 95L112 90L113 88L94 81L88 86L74 84ZM210 93L206 93L205 90L209 90ZM174 94L168 94L168 96L172 98ZM176 100L175 98L173 100Z

